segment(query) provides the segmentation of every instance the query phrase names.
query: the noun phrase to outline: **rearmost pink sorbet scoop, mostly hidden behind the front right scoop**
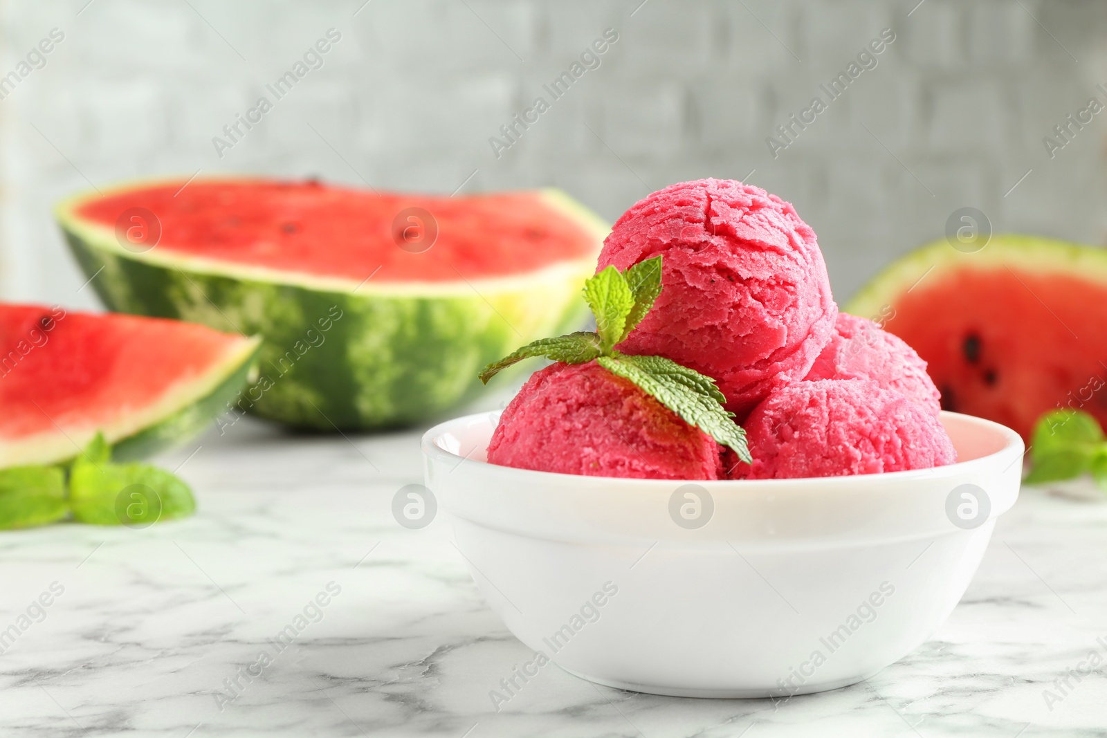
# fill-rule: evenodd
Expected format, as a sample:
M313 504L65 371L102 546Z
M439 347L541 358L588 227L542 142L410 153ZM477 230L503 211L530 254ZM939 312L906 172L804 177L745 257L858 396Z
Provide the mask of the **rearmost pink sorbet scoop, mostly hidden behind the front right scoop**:
M838 313L834 337L807 374L808 380L872 380L938 415L941 393L927 362L898 335L865 318Z

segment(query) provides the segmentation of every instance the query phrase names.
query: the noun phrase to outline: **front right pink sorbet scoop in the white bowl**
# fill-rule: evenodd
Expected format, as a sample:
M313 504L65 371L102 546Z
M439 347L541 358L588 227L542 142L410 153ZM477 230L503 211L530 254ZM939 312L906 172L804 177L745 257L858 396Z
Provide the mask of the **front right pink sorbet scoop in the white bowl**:
M735 477L787 479L928 469L956 460L938 417L869 380L777 387L744 424L753 465Z

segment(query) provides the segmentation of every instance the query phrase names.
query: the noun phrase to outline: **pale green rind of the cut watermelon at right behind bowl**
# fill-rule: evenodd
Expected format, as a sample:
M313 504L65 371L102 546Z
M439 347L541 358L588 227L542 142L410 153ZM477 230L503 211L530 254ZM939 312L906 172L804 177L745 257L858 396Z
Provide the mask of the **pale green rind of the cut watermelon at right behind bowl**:
M953 270L1010 267L1036 274L1079 274L1107 285L1107 251L1041 236L996 235L980 251L966 253L942 239L893 261L861 288L842 311L871 318L896 308L896 300L917 283L941 280ZM922 280L920 282L920 280Z

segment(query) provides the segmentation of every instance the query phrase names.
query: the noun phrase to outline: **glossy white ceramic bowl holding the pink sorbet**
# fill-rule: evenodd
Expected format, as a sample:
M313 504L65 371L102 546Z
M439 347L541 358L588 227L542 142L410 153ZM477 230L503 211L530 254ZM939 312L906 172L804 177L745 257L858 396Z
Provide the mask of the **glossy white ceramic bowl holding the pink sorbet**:
M954 465L701 482L487 464L496 420L423 437L426 485L484 596L566 671L662 695L820 692L894 663L964 594L1022 474L1017 434L954 413Z

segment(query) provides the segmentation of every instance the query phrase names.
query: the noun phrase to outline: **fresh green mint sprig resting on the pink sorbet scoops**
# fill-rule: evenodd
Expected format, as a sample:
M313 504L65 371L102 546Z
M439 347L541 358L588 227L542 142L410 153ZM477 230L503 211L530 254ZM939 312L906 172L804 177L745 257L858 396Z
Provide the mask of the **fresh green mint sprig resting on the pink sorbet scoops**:
M480 372L488 384L501 370L532 356L566 364L596 360L617 376L630 380L646 394L673 410L720 444L728 446L746 464L752 461L746 447L746 432L726 410L726 398L715 381L695 370L681 366L663 356L635 356L615 351L642 322L661 294L661 257L641 261L624 272L609 266L584 282L584 300L596 315L596 331L578 331L554 339L541 339L518 349Z

